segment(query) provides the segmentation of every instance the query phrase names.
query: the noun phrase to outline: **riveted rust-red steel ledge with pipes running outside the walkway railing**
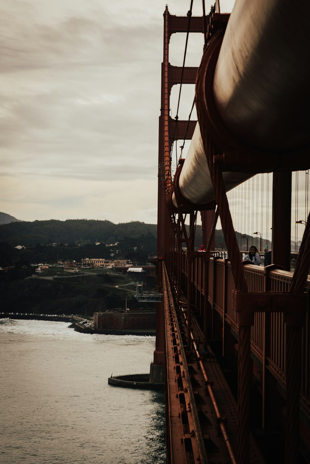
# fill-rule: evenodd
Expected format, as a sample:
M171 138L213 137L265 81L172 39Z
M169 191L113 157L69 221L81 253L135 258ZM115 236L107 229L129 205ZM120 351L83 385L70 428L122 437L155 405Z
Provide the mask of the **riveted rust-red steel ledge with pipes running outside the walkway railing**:
M236 462L237 406L233 394L210 347L208 353L201 353L198 359L195 351L187 351L183 345L186 318L183 312L176 313L167 275L163 278L163 295L169 440L167 462L191 463L197 462L198 458L201 463ZM193 339L201 339L197 322L193 325ZM206 374L208 382L205 380ZM215 403L208 389L211 385ZM221 430L224 424L226 439ZM250 463L264 462L251 437Z

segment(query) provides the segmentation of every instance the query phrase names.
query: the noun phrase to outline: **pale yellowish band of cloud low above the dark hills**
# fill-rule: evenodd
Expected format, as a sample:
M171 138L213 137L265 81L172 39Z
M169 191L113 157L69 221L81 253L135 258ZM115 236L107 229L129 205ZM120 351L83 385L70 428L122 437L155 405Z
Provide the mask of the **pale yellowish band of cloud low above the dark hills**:
M34 219L111 219L113 222L141 220L157 222L157 179L102 182L77 179L25 179L23 192L18 178L0 178L6 199L0 211L12 211L23 220ZM105 212L106 217L103 217ZM144 219L143 219L144 218ZM148 218L148 219L146 219Z

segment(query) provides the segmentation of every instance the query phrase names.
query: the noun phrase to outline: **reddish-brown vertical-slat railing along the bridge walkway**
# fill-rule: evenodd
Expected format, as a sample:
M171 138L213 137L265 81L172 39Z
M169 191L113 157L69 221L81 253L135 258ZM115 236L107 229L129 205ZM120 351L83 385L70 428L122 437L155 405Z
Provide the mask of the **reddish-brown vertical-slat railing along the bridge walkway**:
M204 260L194 257L192 283L193 298L195 299L197 313L203 315L204 289ZM187 267L186 255L182 260L182 283L186 288ZM265 268L263 266L245 266L245 278L250 292L268 291L285 292L290 290L293 272L279 269ZM209 262L208 302L209 310L216 311L220 319L230 326L236 341L238 341L238 324L233 308L233 290L235 284L231 264L228 259L212 257ZM305 286L310 292L310 276ZM302 403L310 414L310 314L305 318L305 326L302 330L302 379L301 397ZM208 318L209 320L212 318ZM285 387L285 322L281 313L256 313L255 322L251 329L251 349L259 363L267 366L271 374ZM231 332L231 330L229 330ZM225 336L225 329L222 336Z

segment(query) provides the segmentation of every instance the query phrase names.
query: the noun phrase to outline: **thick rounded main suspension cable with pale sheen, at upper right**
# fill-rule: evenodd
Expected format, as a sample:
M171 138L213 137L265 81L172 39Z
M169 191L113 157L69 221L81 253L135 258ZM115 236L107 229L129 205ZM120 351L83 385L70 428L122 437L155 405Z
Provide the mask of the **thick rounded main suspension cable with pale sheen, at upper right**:
M213 52L203 70L200 104L206 106L210 136L223 153L218 160L226 162L226 192L258 172L287 168L292 156L296 169L309 164L310 62L304 57L304 46L310 44L310 3L301 0L297 8L303 11L298 27L292 26L289 0L270 0L266 8L259 0L251 5L236 0L227 26L219 26L216 15L213 18L213 27L220 30L215 34L216 46L211 45L214 36L206 47L205 55L212 46ZM236 152L242 155L238 166ZM198 123L178 191L195 205L214 200ZM174 193L172 202L177 207Z

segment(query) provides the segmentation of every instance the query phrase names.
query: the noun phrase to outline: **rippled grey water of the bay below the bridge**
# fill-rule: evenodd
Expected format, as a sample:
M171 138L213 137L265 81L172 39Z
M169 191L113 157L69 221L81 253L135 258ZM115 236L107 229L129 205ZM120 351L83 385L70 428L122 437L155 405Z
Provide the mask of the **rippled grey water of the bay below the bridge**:
M149 372L155 337L0 319L2 464L163 464L164 394L108 385Z

